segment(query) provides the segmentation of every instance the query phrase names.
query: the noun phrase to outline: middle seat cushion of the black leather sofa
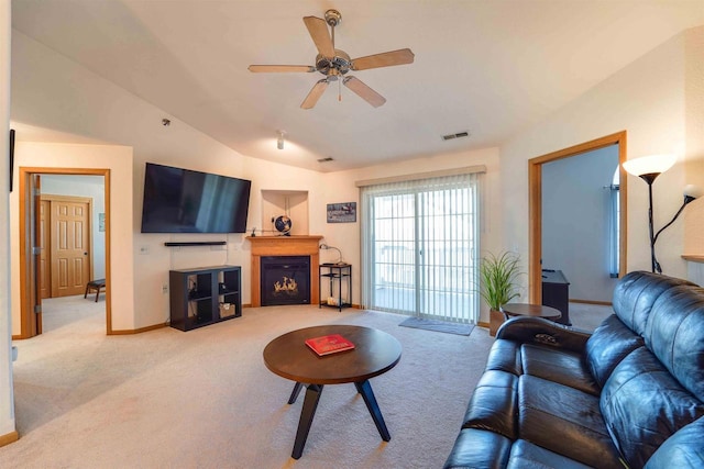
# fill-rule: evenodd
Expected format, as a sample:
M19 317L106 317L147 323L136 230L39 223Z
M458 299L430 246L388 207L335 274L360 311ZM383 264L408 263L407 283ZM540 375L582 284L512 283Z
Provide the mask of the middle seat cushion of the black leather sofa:
M600 399L578 389L530 375L519 377L518 434L587 466L623 469Z

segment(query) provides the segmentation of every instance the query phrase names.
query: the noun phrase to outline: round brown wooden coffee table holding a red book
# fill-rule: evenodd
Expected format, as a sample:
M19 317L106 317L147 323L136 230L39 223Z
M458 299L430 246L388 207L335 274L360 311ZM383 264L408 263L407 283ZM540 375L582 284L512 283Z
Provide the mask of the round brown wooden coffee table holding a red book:
M354 344L351 350L318 356L306 339L340 334ZM296 381L288 403L296 402L301 387L306 398L300 411L292 457L300 458L324 384L353 382L366 404L383 440L391 434L382 415L370 379L391 370L400 360L398 340L385 332L352 325L324 325L292 331L276 337L264 348L264 364L272 372Z

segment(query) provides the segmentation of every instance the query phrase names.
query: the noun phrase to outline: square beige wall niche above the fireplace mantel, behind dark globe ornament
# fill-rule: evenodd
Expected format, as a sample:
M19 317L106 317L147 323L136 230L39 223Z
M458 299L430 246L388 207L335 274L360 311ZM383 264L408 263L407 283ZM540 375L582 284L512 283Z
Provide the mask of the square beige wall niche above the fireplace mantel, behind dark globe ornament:
M256 227L256 234L276 234L272 219L280 215L292 220L292 236L308 235L308 191L262 190L262 224Z

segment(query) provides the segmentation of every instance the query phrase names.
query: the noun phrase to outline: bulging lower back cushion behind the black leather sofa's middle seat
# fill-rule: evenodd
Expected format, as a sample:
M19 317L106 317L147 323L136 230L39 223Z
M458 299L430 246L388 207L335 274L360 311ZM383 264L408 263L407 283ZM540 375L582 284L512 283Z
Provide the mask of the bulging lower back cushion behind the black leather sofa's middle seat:
M601 400L608 431L634 467L642 467L670 436L704 415L704 404L646 347L616 367Z

